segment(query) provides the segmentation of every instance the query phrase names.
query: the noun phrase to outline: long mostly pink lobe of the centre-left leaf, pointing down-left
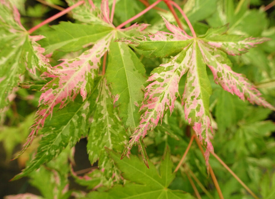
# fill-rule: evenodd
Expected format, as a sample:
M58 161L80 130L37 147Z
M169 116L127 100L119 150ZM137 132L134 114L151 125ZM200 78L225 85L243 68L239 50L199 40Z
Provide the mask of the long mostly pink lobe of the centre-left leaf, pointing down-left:
M43 73L42 76L53 78L42 89L39 99L39 110L36 112L35 121L31 126L31 133L23 149L17 155L21 155L31 144L39 129L44 126L45 119L52 114L53 108L60 104L63 108L80 93L83 100L86 99L93 87L93 81L97 76L100 66L100 58L108 50L113 39L113 32L97 41L89 50L83 52L79 57L66 59L59 65L53 67L53 73Z

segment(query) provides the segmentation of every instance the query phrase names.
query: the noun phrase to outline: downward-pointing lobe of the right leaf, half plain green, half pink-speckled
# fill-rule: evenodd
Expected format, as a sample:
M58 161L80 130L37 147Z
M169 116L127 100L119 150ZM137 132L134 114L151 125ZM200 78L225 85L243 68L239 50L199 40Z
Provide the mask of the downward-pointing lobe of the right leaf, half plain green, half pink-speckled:
M185 119L193 126L200 142L207 146L205 157L208 163L209 152L213 151L210 142L213 132L209 113L209 98L212 89L198 44L194 42L186 54L189 55L187 63L189 70L182 97Z

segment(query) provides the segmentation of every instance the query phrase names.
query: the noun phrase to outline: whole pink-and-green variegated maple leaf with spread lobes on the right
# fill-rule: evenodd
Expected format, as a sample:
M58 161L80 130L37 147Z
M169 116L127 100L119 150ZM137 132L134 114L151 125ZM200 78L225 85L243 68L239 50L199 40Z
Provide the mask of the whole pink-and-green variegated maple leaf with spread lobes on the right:
M178 96L178 82L187 73L186 86L182 96L186 120L193 126L200 141L207 147L206 158L213 150L210 138L212 127L209 113L209 97L212 92L207 77L206 65L214 75L214 81L228 92L236 94L242 100L275 110L272 105L260 97L260 92L242 74L231 70L231 62L226 56L247 52L256 44L268 41L267 38L244 38L227 35L226 27L209 29L204 36L191 37L183 30L164 19L166 27L172 33L159 31L156 34L140 37L122 38L136 44L136 48L151 51L156 57L175 55L168 63L160 65L151 73L140 110L140 124L131 136L122 154L123 158L133 145L138 143L148 131L154 129L169 108L172 113ZM208 161L207 161L208 162Z

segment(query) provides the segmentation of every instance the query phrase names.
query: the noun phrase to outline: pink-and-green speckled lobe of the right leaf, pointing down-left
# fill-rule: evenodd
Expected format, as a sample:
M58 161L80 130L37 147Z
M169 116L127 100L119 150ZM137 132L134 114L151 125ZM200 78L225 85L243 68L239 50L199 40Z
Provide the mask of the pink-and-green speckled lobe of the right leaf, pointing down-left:
M152 81L152 83L146 87L144 100L140 107L140 110L145 110L145 112L141 115L140 124L131 135L132 139L126 145L121 158L127 155L133 145L140 145L139 139L143 139L148 131L157 126L168 109L172 113L174 102L178 97L180 78L187 71L187 68L183 68L184 62L188 62L188 57L183 52L151 72L147 81Z

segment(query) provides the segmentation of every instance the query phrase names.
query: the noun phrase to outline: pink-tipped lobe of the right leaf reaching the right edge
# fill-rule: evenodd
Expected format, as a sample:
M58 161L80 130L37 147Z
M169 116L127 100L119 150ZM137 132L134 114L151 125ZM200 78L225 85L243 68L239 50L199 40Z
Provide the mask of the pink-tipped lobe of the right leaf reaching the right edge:
M242 100L248 100L252 104L275 110L271 104L260 97L260 91L247 78L231 70L232 64L226 57L226 54L217 51L212 46L207 46L207 44L200 45L200 48L205 62L214 75L216 84L231 94L236 94Z

